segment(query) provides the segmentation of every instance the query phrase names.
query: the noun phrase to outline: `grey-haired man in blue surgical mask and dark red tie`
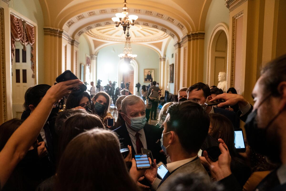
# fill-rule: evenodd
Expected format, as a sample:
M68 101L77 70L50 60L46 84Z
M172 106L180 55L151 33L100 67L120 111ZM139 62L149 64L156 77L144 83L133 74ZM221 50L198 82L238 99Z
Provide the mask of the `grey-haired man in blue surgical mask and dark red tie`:
M132 157L142 153L141 148L144 148L152 152L154 159L166 161L166 157L159 153L160 145L156 143L161 138L162 129L146 123L145 104L139 96L129 95L122 100L121 116L125 123L114 132L124 147L131 145Z

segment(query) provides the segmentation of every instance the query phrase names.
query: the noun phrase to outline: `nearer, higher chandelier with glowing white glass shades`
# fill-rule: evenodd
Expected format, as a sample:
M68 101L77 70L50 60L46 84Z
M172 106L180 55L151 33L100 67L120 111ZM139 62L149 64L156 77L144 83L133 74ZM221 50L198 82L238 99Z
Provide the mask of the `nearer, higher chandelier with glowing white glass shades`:
M128 7L126 7L127 3L126 0L124 0L123 3L123 7L122 7L122 12L121 13L116 13L115 16L116 17L112 17L112 21L114 21L116 23L116 27L119 27L119 25L122 25L123 27L123 31L125 34L126 28L127 30L129 30L130 26L134 25L134 21L138 19L137 15L128 15L127 9Z

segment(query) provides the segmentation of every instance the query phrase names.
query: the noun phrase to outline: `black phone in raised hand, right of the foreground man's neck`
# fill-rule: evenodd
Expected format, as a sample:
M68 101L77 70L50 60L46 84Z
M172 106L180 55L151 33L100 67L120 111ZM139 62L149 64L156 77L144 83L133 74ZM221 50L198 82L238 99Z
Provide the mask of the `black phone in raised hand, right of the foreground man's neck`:
M219 159L219 155L221 154L221 150L219 149L219 141L210 135L206 136L206 139L204 140L204 143L200 149L202 149L202 151L207 151L208 157L213 162L217 161ZM204 156L204 152L202 152L202 156Z

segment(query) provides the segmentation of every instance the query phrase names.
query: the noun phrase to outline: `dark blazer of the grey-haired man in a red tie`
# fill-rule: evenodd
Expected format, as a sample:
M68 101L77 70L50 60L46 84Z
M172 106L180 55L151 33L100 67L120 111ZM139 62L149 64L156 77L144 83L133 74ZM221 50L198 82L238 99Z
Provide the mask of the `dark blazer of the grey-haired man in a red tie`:
M130 145L132 147L132 157L134 157L135 150L132 144L132 141L130 139L129 133L127 131L127 128L125 123L117 129L114 130L115 133L117 133L118 138L121 143L121 148L127 147L127 145ZM155 127L153 125L145 124L144 126L144 132L146 137L146 143L147 143L147 149L152 152L152 156L154 159L156 159L157 163L162 161L166 164L166 156L160 153L161 143L158 141L158 139L161 139L163 129L160 129L158 127ZM158 141L158 143L156 143Z

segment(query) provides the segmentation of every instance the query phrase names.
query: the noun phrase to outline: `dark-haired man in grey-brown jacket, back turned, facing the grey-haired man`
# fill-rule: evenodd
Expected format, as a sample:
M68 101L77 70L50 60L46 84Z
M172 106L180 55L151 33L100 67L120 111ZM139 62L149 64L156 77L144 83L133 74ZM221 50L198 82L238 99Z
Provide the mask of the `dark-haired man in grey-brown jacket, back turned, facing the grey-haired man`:
M144 176L154 190L165 190L166 184L180 173L203 173L206 170L200 163L198 151L208 135L210 118L204 109L192 101L177 102L167 109L161 147L170 156L168 172L162 180L157 178L157 165L146 170Z

